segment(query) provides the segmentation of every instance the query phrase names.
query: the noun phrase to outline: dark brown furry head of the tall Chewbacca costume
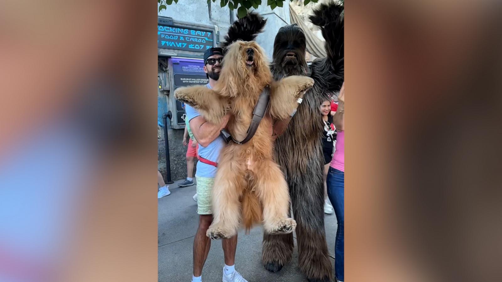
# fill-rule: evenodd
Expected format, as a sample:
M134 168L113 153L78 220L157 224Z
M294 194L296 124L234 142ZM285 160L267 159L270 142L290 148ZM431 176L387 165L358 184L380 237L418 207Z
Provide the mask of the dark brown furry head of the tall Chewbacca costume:
M306 39L296 24L282 27L274 41L274 63L286 66L304 65Z

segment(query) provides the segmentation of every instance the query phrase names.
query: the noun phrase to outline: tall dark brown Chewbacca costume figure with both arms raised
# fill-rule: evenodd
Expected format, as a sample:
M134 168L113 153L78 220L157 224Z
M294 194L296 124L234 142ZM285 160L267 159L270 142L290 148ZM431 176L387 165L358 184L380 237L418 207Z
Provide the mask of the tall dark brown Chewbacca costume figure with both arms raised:
M319 5L310 17L310 21L321 28L327 57L316 59L309 68L305 61L305 35L293 24L279 30L271 65L275 80L291 75L309 75L315 81L285 132L277 138L274 156L288 183L297 221L299 266L311 282L332 278L324 229L322 117L318 105L327 93L339 91L343 83L342 11L340 4L328 2ZM266 20L257 14L239 19L230 26L223 45L241 38L255 38L265 23ZM262 259L267 270L281 270L292 253L292 234L264 234Z

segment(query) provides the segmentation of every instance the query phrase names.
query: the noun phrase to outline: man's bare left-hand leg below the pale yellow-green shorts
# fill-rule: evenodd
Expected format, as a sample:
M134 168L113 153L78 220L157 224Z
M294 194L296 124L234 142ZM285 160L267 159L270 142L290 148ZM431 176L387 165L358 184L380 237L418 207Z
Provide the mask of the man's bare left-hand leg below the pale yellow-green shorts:
M196 277L202 275L202 267L204 267L209 248L211 247L211 239L206 236L206 232L212 221L213 216L211 214L199 215L199 227L193 240L193 275ZM235 240L235 244L237 244L237 240ZM233 253L235 256L235 247Z

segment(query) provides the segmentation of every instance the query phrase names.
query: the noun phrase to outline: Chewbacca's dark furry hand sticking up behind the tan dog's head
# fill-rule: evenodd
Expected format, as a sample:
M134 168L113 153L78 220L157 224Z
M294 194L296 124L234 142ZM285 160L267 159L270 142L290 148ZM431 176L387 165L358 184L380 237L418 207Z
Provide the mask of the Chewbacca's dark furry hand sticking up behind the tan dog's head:
M233 22L220 46L226 52L226 48L237 40L254 41L256 36L263 32L266 23L267 20L257 13L247 14L247 16Z

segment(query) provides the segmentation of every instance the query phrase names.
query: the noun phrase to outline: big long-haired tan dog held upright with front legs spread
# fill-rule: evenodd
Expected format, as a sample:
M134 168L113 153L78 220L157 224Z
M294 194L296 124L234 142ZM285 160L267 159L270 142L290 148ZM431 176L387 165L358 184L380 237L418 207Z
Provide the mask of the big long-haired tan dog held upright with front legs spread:
M213 89L182 87L175 96L214 124L229 112L227 129L233 138L241 140L265 87L270 86L271 91L270 115L283 119L297 108L297 100L314 84L307 76L274 81L264 54L254 41L237 41L228 47ZM288 185L273 160L270 128L271 120L263 119L249 142L230 143L222 149L212 190L214 221L206 233L211 239L232 237L241 222L247 230L263 222L269 234L287 234L295 229L296 221L288 217Z

